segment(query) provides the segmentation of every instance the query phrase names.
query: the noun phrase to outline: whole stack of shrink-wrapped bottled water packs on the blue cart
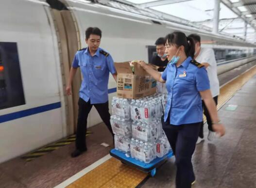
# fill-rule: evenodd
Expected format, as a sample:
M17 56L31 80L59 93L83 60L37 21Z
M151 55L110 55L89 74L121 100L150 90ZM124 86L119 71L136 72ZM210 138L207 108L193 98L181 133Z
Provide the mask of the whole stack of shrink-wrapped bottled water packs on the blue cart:
M171 149L161 125L166 101L167 94L136 100L113 97L110 123L115 149L145 163L165 156Z

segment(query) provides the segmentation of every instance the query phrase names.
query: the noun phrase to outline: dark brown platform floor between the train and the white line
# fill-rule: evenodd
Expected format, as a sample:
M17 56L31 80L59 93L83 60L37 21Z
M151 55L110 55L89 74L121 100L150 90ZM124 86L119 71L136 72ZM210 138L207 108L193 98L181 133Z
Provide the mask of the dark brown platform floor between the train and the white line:
M79 157L70 157L73 142L29 162L17 157L0 164L0 188L53 188L106 156L114 147L107 127L100 124L88 130L93 132L86 137L88 150ZM104 147L102 142L110 146Z

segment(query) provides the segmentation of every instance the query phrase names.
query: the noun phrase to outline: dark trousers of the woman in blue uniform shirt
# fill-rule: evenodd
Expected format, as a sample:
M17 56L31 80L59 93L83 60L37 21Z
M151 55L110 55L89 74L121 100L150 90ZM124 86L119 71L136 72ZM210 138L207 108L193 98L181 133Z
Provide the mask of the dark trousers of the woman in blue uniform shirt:
M176 188L191 188L195 174L191 162L201 122L185 125L164 124L163 129L175 155Z

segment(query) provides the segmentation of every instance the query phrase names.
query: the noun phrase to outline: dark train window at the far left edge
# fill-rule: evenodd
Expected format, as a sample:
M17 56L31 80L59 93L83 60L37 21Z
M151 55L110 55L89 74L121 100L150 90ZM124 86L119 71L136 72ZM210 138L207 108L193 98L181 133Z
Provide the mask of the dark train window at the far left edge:
M0 42L0 110L24 104L17 43Z

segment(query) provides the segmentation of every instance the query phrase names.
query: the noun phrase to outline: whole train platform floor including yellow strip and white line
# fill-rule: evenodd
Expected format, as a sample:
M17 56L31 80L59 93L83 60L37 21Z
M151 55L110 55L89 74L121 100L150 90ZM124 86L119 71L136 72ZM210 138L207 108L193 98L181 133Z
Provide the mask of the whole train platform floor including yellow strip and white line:
M218 109L226 135L207 141L205 126L205 141L196 146L192 159L196 175L193 188L256 187L256 63L248 63L232 71L219 76L222 87ZM228 74L231 75L229 79ZM72 139L69 140L71 142ZM105 147L103 142L109 146ZM74 149L74 142L71 142L53 151L49 149L51 152L39 149L27 157L4 162L0 164L0 187L175 187L174 157L157 169L154 177L150 177L109 156L109 150L114 146L105 125L89 128L87 145L88 151L76 158L70 157Z

